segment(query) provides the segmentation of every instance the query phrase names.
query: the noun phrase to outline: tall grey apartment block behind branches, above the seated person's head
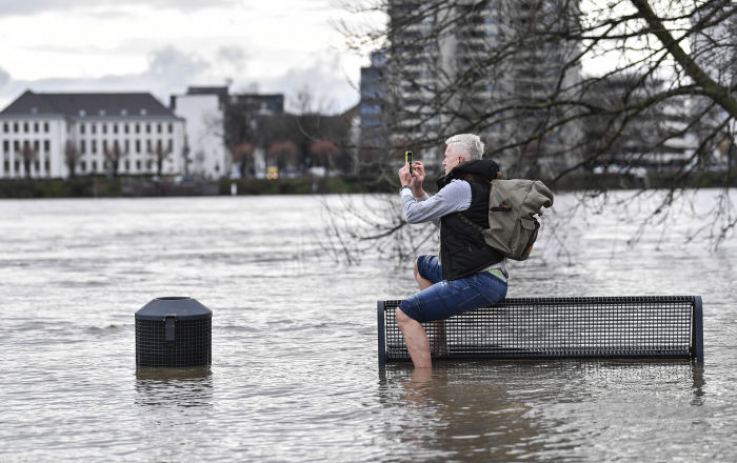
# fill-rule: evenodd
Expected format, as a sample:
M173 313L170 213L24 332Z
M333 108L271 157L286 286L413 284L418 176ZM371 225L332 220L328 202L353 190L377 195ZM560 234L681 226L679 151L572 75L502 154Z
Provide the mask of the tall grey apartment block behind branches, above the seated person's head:
M577 0L390 2L395 144L408 139L437 156L445 137L471 132L521 173L574 162L580 128L551 129L564 114L544 103L580 79L580 44L563 39L578 17Z

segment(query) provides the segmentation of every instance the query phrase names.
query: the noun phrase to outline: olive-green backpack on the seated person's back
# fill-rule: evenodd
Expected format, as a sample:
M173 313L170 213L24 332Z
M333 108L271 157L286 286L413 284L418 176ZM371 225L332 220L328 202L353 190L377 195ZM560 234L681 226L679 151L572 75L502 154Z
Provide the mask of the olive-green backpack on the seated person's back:
M553 205L553 193L539 180L492 180L489 192L489 228L477 228L486 244L513 260L530 257L537 239L543 207Z

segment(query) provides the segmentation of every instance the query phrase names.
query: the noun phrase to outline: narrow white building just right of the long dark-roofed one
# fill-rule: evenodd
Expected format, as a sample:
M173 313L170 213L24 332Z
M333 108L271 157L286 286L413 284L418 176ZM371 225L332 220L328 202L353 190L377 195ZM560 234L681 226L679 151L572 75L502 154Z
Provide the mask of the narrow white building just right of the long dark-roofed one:
M171 97L172 110L186 120L186 174L208 179L230 175L232 157L224 143L223 124L227 95L227 87L197 87Z

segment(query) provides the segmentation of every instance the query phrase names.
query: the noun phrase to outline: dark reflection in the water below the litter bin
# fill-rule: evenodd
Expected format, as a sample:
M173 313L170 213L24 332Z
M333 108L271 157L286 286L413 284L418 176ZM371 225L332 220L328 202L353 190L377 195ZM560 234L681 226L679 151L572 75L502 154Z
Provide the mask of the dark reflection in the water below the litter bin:
M209 366L136 369L136 404L146 406L212 406Z

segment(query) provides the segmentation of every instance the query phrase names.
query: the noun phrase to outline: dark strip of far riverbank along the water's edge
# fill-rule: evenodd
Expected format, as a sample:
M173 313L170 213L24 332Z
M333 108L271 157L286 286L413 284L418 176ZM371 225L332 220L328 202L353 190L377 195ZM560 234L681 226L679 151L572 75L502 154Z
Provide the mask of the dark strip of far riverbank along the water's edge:
M685 177L653 173L647 177L622 174L571 174L553 184L556 192L623 189L737 187L737 176L703 172ZM432 192L434 182L426 182ZM210 182L175 182L140 177L77 177L73 179L0 180L1 198L115 198L159 196L281 195L391 193L399 187L389 180L367 181L353 176L304 177L278 180L239 179Z

